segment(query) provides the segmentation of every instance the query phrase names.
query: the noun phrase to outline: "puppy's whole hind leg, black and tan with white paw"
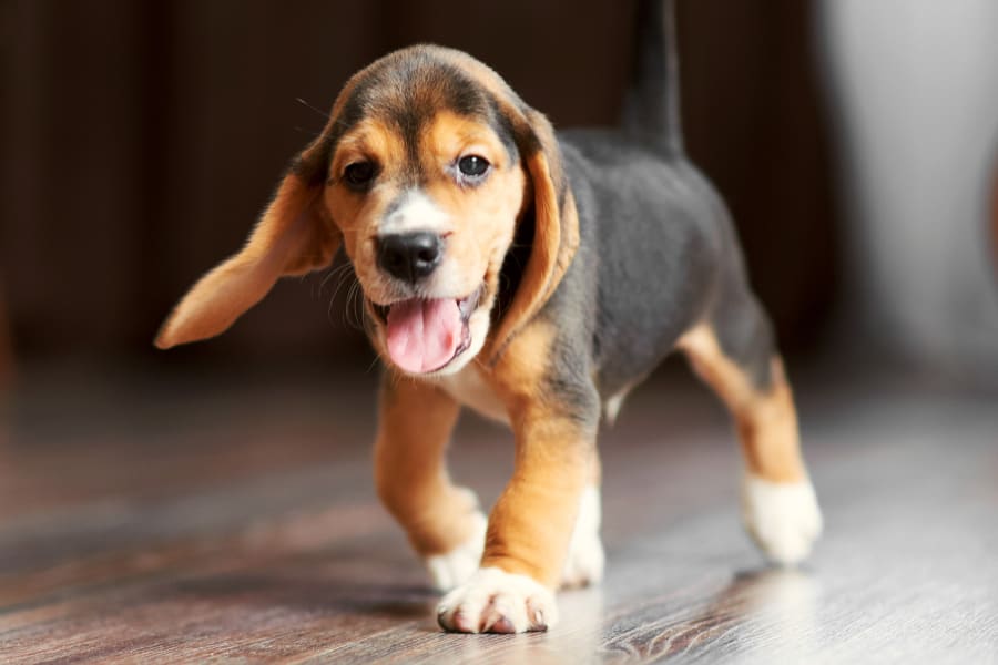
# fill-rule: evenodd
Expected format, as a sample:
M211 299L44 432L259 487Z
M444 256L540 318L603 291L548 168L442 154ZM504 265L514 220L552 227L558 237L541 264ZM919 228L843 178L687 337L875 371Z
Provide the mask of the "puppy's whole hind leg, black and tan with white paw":
M804 560L822 531L822 514L765 314L747 288L735 283L722 293L713 315L678 346L735 419L745 460L742 514L748 533L776 563Z

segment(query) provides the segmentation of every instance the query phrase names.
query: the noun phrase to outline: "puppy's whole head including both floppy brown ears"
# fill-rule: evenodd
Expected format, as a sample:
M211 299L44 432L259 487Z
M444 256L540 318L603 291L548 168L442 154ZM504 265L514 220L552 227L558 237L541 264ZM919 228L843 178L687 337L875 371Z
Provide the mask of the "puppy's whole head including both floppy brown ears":
M405 49L347 82L244 249L191 289L156 345L224 331L342 245L378 352L411 375L457 371L537 313L578 233L550 123L473 58ZM526 265L510 265L515 237Z

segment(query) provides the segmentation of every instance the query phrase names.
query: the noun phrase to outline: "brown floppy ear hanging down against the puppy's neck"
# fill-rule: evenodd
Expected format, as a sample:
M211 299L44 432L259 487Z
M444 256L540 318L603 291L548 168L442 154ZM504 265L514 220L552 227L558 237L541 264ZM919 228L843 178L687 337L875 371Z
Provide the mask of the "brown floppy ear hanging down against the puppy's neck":
M517 143L530 180L528 194L532 191L533 201L525 206L527 213L518 223L529 223L532 211L533 242L520 285L493 337L493 362L554 293L579 248L579 215L564 177L554 129L532 109L526 110L525 116L527 126L518 132L521 136Z

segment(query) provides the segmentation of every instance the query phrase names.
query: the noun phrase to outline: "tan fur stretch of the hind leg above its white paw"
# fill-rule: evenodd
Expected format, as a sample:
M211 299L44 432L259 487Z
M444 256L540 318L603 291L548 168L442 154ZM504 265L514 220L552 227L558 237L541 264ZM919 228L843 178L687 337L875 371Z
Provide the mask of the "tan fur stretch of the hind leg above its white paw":
M773 359L773 386L767 392L761 392L752 387L745 372L724 356L709 326L693 328L678 346L734 416L748 471L772 482L804 480L806 471L801 458L797 415L782 361Z

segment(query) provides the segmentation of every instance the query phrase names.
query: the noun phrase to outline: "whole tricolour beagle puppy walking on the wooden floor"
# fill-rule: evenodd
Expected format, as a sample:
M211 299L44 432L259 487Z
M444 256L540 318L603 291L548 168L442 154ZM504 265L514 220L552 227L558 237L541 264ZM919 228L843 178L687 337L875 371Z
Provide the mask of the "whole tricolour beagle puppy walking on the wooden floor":
M822 529L793 397L729 214L682 146L673 7L639 7L613 130L557 133L491 69L435 45L354 75L245 247L180 301L156 345L228 328L282 276L342 247L384 360L375 479L436 585L447 631L542 631L554 591L600 581L597 429L680 350L726 403L743 515L773 561ZM510 426L488 518L444 453L462 407Z

